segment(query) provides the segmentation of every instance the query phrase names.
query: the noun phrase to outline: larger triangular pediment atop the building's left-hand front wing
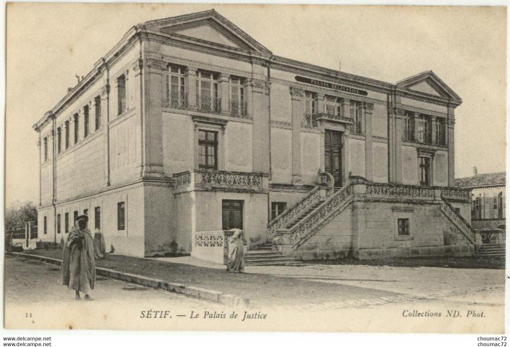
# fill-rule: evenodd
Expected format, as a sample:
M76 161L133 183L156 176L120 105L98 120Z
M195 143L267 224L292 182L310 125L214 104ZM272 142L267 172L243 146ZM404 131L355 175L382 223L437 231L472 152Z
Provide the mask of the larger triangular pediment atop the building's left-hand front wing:
M214 10L151 20L144 24L165 32L213 44L271 54L266 47Z

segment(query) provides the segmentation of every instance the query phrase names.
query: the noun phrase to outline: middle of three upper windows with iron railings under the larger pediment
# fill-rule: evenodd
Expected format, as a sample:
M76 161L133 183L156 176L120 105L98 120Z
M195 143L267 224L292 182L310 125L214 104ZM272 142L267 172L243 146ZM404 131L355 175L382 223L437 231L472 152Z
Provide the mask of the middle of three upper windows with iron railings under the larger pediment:
M199 111L221 112L218 97L218 77L211 72L196 72L196 106Z

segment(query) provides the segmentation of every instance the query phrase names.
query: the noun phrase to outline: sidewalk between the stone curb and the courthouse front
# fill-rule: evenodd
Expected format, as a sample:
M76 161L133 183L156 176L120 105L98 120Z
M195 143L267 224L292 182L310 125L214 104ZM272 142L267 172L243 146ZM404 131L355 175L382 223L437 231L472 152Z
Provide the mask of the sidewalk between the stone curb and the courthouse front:
M35 250L25 254L62 259L61 250ZM375 299L398 295L399 292L360 288L344 284L311 282L265 274L239 274L224 269L193 266L109 254L97 259L96 266L129 274L182 283L208 290L221 291L250 300L251 306L304 305L356 299Z

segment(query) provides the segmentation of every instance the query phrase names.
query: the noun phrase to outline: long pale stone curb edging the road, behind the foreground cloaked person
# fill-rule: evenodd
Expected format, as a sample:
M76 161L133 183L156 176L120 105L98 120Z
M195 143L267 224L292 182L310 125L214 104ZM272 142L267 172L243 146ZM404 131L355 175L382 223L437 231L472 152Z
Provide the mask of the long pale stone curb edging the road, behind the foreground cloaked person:
M8 253L17 257L39 260L45 263L61 265L62 260L48 258L34 254ZM241 298L240 296L225 294L221 291L209 290L194 286L188 286L181 283L171 283L164 280L145 277L141 275L128 274L127 272L112 270L104 267L96 267L96 274L100 276L110 277L113 279L140 284L147 287L167 290L172 293L185 294L194 296L197 299L213 301L229 306L249 306L250 300Z

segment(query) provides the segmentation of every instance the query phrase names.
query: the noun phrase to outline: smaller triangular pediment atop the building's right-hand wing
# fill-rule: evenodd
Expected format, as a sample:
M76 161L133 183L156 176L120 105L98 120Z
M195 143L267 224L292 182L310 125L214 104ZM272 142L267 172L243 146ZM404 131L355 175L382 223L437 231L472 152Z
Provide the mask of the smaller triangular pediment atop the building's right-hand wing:
M418 75L406 78L396 84L401 88L461 101L460 96L448 87L433 71L418 73Z

